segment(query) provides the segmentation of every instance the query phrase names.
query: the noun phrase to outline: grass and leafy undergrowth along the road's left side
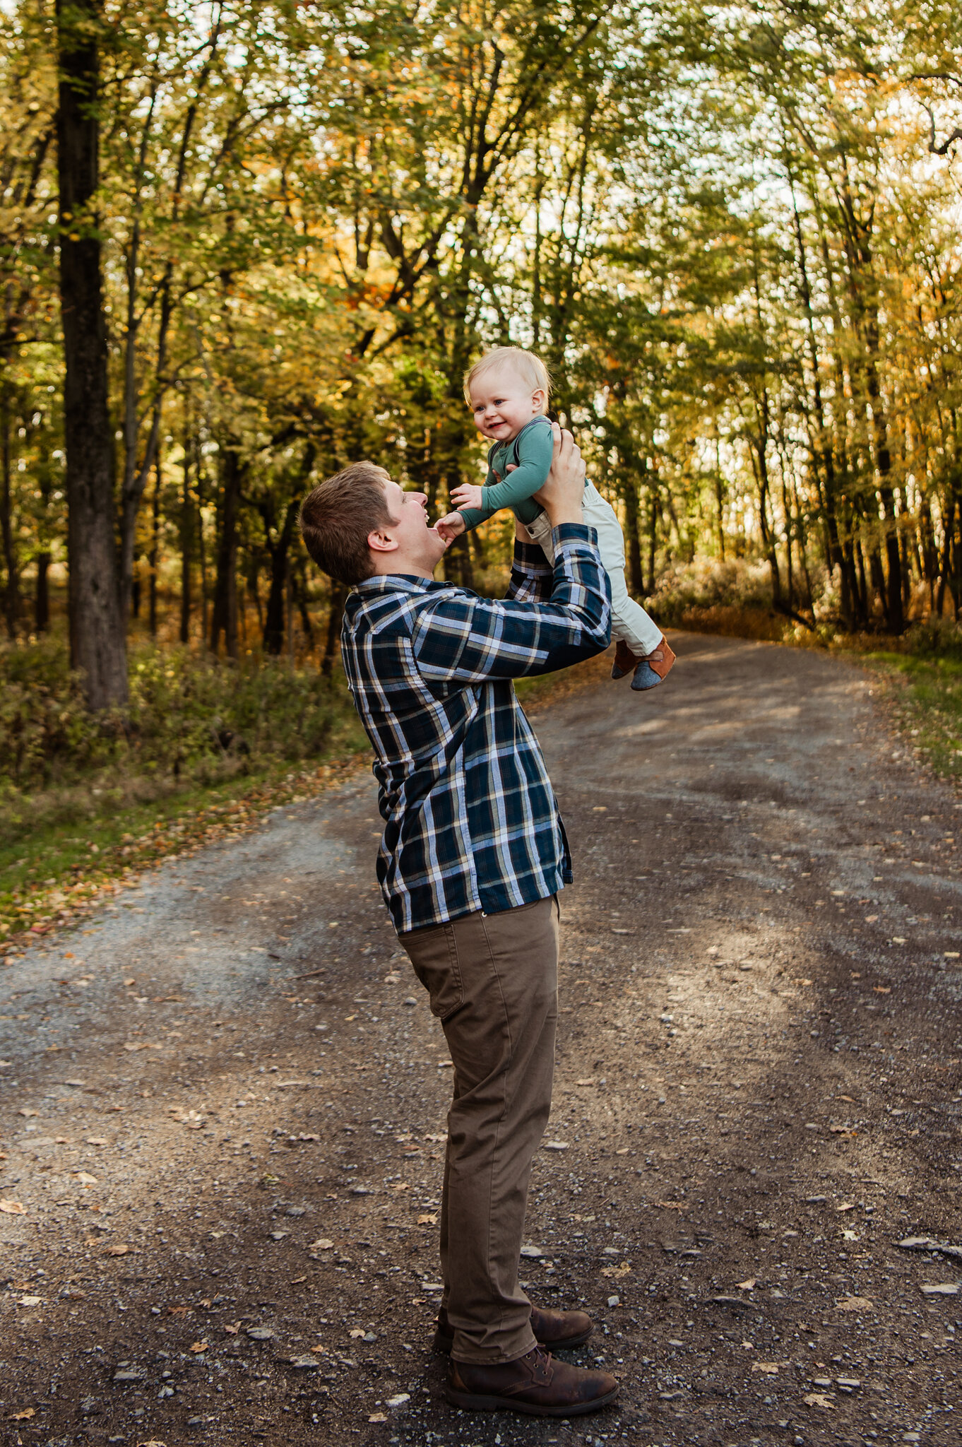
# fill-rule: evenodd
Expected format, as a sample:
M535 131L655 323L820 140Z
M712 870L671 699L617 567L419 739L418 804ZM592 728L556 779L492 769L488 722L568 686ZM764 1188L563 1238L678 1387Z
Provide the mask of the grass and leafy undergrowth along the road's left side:
M344 677L132 650L124 715L87 712L62 640L0 653L0 952L162 858L240 832L356 767Z

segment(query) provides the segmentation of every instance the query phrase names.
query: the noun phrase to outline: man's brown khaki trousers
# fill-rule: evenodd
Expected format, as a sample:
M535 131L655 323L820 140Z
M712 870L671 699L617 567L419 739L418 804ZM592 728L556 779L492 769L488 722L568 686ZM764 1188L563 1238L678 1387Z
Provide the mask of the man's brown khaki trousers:
M557 897L401 935L454 1062L441 1201L443 1304L459 1362L532 1349L518 1285L531 1158L551 1108Z

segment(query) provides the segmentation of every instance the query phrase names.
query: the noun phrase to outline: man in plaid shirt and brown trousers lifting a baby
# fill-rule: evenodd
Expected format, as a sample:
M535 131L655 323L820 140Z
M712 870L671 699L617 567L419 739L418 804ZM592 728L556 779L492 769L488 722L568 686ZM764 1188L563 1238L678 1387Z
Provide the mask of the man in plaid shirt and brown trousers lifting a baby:
M583 489L580 453L556 427L538 496L554 567L518 524L503 601L433 582L446 543L427 499L382 467L347 467L301 509L311 557L353 585L341 658L376 755L378 878L454 1064L435 1337L451 1354L447 1396L544 1417L618 1395L606 1372L545 1351L584 1341L590 1317L532 1308L518 1285L531 1159L551 1108L557 891L571 871L511 680L608 647L610 592L582 524Z

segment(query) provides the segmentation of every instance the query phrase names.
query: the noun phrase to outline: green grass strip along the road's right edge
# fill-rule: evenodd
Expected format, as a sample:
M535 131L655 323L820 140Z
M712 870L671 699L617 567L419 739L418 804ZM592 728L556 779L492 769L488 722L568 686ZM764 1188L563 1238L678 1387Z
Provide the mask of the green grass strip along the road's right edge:
M890 684L898 729L935 773L962 783L962 660L901 653L859 654Z

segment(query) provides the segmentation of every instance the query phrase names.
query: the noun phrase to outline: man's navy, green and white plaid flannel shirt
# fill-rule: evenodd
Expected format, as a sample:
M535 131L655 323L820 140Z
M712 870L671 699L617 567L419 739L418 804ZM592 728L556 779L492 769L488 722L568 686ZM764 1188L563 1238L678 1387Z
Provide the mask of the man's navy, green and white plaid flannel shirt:
M375 747L385 820L378 880L404 933L547 899L571 881L541 748L512 679L610 641L610 585L592 528L554 530L551 569L515 543L508 595L408 574L349 593L347 684Z

